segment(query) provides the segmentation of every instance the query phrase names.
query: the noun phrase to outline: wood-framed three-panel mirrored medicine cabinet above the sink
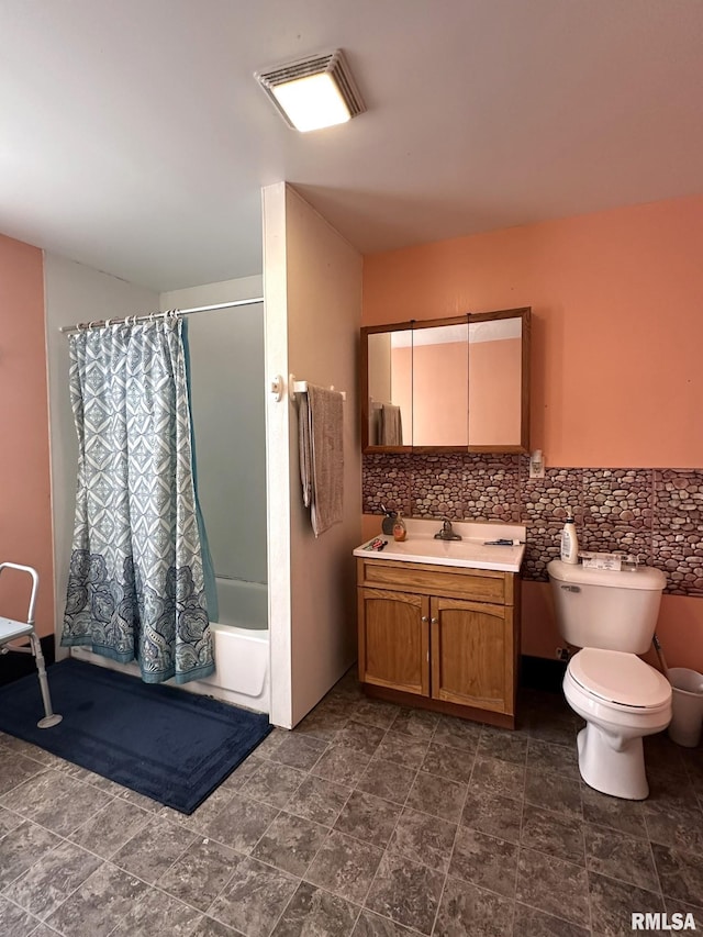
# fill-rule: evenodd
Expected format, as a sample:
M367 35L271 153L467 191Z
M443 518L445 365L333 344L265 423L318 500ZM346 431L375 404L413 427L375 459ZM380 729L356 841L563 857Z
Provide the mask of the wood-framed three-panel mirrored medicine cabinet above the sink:
M529 309L361 330L372 451L529 449Z

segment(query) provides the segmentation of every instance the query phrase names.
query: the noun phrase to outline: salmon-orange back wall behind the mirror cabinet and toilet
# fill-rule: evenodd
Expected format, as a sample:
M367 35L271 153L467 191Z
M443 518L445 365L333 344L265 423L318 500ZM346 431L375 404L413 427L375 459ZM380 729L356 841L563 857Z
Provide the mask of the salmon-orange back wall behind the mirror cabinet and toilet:
M701 469L702 239L694 197L372 255L362 324L529 305L548 466ZM548 585L524 600L524 651L554 657ZM665 595L658 632L671 666L703 671L703 600Z

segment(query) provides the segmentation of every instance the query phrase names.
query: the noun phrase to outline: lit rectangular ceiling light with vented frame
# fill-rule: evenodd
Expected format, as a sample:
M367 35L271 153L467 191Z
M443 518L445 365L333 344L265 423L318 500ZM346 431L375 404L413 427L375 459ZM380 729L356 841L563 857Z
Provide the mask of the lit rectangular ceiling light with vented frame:
M366 110L342 49L257 71L255 78L288 125L302 132L342 124Z

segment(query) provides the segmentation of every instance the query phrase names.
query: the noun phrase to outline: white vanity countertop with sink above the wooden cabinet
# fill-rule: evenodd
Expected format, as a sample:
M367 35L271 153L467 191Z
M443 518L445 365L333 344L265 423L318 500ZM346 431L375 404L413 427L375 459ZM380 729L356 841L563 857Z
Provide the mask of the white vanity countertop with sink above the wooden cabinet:
M379 527L380 527L379 518ZM466 569L494 569L502 572L518 572L525 555L525 527L520 524L494 524L492 522L457 521L451 526L461 535L460 540L435 539L442 521L416 521L403 518L408 527L404 540L394 540L392 534L378 534L387 540L382 550L368 549L376 537L361 544L354 556L404 562L428 562L437 566L458 566ZM486 540L500 538L521 540L516 546L491 546Z

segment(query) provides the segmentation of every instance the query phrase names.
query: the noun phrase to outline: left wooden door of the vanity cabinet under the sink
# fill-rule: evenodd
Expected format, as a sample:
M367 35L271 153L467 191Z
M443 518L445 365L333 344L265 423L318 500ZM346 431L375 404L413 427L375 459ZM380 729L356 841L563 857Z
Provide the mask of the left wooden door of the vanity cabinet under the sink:
M359 679L429 695L429 600L359 589Z

